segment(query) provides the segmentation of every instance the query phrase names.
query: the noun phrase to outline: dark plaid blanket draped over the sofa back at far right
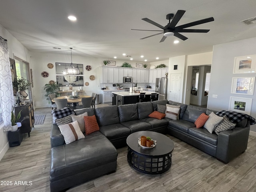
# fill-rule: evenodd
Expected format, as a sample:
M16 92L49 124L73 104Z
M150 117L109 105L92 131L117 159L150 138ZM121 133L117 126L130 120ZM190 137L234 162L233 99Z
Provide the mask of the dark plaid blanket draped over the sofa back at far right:
M251 122L251 125L256 124L256 119L254 119L252 116L244 114L244 113L238 113L235 111L226 111L222 110L216 113L216 115L222 117L224 115L227 116L227 118L232 122L232 123L239 123L244 119L248 119L248 121Z

